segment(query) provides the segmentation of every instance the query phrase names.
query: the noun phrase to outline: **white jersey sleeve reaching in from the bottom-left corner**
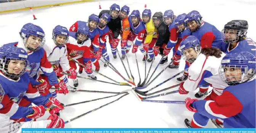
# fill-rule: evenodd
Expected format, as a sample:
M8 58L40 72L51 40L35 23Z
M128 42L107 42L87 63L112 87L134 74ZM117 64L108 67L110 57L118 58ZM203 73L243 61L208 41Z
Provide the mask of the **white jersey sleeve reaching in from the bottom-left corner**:
M5 114L0 114L0 133L21 133L21 128L46 128L51 120L14 122Z

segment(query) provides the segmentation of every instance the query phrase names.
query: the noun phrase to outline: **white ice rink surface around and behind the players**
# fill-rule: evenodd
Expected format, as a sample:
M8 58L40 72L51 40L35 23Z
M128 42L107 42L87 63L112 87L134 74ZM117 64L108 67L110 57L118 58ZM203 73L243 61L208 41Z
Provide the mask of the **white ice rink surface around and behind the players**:
M125 1L102 1L102 9L109 9L110 5L117 3L122 7L127 5L130 7L130 13L134 9L138 9L140 13L144 10L144 5L147 4L147 9L151 9L152 14L156 11L162 11L164 13L167 9L172 9L174 14L177 16L182 13L188 13L192 10L197 10L203 17L203 20L209 22L210 24L215 25L219 30L222 30L224 25L234 19L245 19L248 21L249 30L247 36L252 38L254 41L255 37L255 17L249 15L251 13L256 13L256 2L253 0L214 0L214 1L205 1L205 0L157 0L157 1L143 1L143 0L125 0ZM88 21L88 16L90 14L99 14L102 9L98 9L98 2L86 2L78 3L73 5L63 5L63 6L54 6L49 8L39 8L34 9L34 14L37 17L37 20L33 20L32 14L29 10L18 11L13 13L0 14L0 45L18 41L20 39L19 31L21 27L31 22L35 25L39 25L43 28L46 34L46 43L53 43L52 30L56 25L62 25L64 27L69 27L74 24L76 21ZM110 57L110 62L114 65L115 68L126 78L128 79L123 65L117 56L117 59L114 59L111 53L110 45L107 43L107 50ZM118 50L121 52L120 44L118 45ZM172 51L169 54L169 62L172 57ZM121 53L120 53L121 55ZM138 69L136 66L135 55L130 52L127 54L132 74L135 78L135 83L139 82ZM141 82L144 81L144 68L145 65L142 63L142 54L140 51L137 52L137 58L139 62L139 71L141 74ZM157 63L160 61L160 56L156 57L150 75L157 66ZM110 78L118 81L125 82L118 74L116 74L110 68L104 68L103 63L99 62L101 65L100 73L109 76ZM128 65L126 60L124 60L126 68L128 70ZM155 72L152 79L165 68L167 65L159 66ZM179 70L171 70L167 68L164 73L162 73L149 87L142 89L142 91L149 90L150 88L156 86L157 84L165 81L171 76L179 73L183 70L185 66L184 60L181 60ZM147 63L147 71L149 70L150 63ZM93 69L95 67L93 66ZM128 70L129 73L129 70ZM129 73L130 74L130 73ZM80 76L87 77L86 73L78 74ZM112 82L109 79L106 79L99 74L96 75L98 80ZM180 75L181 76L181 75ZM179 77L179 76L178 76ZM177 78L178 78L177 77ZM84 90L99 90L99 91L112 91L112 92L121 92L126 89L131 89L128 86L116 86L101 82L94 82L86 79L78 79L79 86L77 89ZM73 82L70 80L70 85ZM176 78L171 81L166 82L165 84L157 87L151 92L173 86L178 84ZM178 90L178 87L170 89L166 92L173 90ZM151 93L150 92L150 93ZM184 119L192 119L193 112L190 112L186 109L184 105L177 104L168 104L168 103L148 103L138 101L133 93L121 98L119 101L107 105L104 108L101 108L95 112L91 112L79 119L76 119L65 125L66 128L184 128L183 121ZM176 100L184 101L186 97L194 98L196 92L191 92L189 95L179 95L179 93L166 95L163 97L152 98L149 100ZM107 97L112 94L104 93L86 93L86 92L76 92L68 93L67 95L58 95L58 100L64 103L65 105L71 103L77 103L80 101L92 100L101 97ZM89 103L83 103L80 105L74 105L66 107L61 112L61 118L64 121L72 119L80 114L88 112L94 108L98 108L110 101L117 99L117 97L112 97L104 100L92 101ZM48 114L43 116L42 119L46 119ZM39 119L39 120L40 120ZM214 128L214 124L208 122L207 128Z

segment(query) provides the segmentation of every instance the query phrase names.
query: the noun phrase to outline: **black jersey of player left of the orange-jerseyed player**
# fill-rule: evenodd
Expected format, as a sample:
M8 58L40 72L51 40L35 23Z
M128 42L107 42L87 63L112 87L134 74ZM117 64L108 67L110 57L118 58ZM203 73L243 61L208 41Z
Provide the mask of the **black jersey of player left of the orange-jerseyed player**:
M102 10L99 13L99 18L101 18L101 15L104 13L109 14L110 10ZM118 16L116 19L111 19L109 23L107 23L107 26L109 27L110 30L114 33L114 38L118 38L120 32L121 32L121 19Z

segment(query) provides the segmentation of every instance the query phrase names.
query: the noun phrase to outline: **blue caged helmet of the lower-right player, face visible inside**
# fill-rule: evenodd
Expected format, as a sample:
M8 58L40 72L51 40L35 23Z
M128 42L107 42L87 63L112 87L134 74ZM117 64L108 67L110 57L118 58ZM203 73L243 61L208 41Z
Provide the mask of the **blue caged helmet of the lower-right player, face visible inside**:
M221 60L219 76L228 85L247 82L255 76L256 58L247 51L227 54Z

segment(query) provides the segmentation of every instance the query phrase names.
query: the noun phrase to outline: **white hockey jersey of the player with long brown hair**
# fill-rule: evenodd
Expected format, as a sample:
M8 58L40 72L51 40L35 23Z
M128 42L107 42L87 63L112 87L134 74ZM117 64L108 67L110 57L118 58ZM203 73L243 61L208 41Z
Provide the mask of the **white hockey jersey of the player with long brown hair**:
M199 54L197 59L189 67L189 78L183 84L184 89L187 91L194 91L199 85L203 85L207 82L211 84L211 82L205 81L204 79L218 75L221 60L225 55L226 54L222 53L220 58L214 56L208 56L206 58L205 55ZM217 76L214 76L214 78L216 77ZM218 80L221 79L219 78ZM213 84L213 91L216 92L216 94L221 95L225 88L219 88L215 86L215 83ZM214 87L216 88L214 89Z

